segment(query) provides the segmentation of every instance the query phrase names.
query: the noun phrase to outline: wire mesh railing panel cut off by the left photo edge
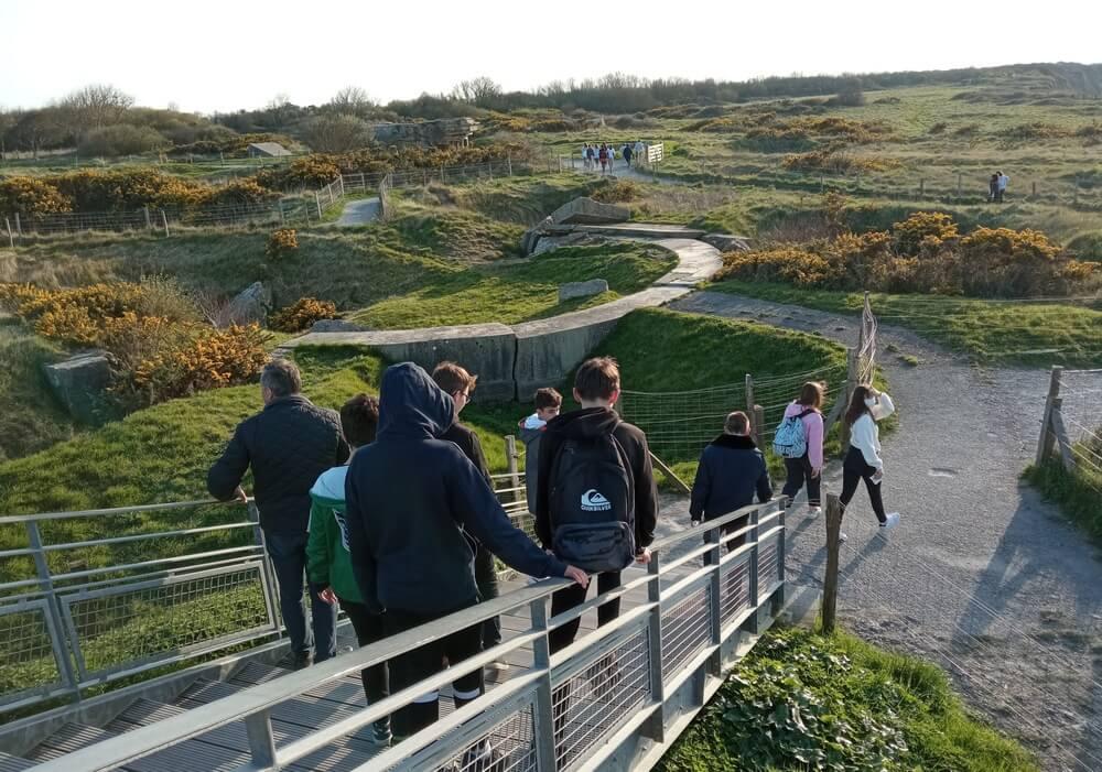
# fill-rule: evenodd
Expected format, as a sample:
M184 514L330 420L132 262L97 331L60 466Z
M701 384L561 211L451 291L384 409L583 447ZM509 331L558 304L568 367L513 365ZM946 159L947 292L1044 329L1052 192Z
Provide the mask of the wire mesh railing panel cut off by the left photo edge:
M0 608L0 703L61 685L46 602Z

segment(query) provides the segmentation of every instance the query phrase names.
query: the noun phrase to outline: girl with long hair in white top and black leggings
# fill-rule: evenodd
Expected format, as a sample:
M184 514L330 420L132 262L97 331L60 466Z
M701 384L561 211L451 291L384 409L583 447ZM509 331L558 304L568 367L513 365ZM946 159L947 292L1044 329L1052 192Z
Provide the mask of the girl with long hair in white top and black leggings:
M885 531L899 523L899 513L884 513L884 500L880 497L884 460L880 458L879 428L876 422L894 412L895 404L884 392L871 385L858 385L853 390L850 407L845 411L845 422L850 425L850 450L842 465L842 494L839 497L844 513L857 491L857 481L864 480L873 512Z

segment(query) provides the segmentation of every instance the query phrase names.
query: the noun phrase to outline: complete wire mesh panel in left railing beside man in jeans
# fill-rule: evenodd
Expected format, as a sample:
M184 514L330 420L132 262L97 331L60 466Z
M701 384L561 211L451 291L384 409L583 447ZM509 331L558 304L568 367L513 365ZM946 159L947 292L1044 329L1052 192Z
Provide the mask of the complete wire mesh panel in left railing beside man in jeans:
M259 563L61 596L86 674L274 631Z

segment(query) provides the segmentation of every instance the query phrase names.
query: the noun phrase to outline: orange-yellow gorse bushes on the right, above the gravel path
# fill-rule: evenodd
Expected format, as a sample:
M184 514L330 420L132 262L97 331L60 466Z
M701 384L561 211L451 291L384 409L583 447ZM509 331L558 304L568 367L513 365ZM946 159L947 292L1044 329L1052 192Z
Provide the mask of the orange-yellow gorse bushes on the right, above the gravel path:
M1089 290L1099 272L1039 231L976 228L962 237L949 215L921 211L888 231L734 252L719 275L823 290L1028 297Z

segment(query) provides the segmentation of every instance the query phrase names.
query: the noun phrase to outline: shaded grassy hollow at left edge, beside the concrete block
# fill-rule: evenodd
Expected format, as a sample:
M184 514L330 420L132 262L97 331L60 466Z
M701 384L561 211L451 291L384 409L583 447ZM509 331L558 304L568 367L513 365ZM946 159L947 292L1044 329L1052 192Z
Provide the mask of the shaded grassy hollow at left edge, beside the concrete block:
M76 431L42 374L42 366L61 356L14 319L0 318L0 460L48 447Z

